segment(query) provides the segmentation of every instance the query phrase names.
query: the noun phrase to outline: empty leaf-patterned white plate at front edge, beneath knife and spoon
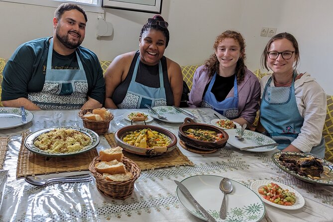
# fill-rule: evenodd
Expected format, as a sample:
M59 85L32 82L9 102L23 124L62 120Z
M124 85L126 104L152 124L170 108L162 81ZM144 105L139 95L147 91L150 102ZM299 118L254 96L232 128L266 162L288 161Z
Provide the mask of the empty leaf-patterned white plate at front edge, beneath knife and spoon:
M225 197L226 218L220 219L223 193L219 188L223 177L214 175L197 175L184 179L181 183L190 191L198 203L218 222L258 222L265 215L265 206L259 196L244 185L231 180L233 190ZM182 205L194 216L207 221L206 218L186 198L177 187L177 197Z

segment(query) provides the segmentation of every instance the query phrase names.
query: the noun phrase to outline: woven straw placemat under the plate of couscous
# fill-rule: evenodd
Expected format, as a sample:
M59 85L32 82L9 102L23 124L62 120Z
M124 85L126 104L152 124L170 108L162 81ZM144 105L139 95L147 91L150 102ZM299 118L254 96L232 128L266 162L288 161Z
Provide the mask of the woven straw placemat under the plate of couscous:
M30 152L24 147L24 139L29 133L22 133L21 147L18 152L16 177L70 171L88 170L95 156L96 149L76 156L47 157Z

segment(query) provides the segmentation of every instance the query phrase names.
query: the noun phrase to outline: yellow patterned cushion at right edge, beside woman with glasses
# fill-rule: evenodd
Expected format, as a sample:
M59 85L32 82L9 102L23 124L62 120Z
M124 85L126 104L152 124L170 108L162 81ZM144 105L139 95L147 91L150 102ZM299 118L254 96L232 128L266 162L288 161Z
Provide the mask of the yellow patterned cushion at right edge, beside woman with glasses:
M323 129L325 138L325 159L333 162L333 96L327 96L327 114Z

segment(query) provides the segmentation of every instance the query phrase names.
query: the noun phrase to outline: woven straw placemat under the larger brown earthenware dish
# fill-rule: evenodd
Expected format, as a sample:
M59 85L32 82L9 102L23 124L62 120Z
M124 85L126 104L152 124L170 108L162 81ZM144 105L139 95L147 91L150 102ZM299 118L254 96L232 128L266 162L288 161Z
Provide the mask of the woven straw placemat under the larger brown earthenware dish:
M116 147L117 144L114 140L114 133L107 133L104 135L108 140L111 147ZM133 160L141 170L153 170L162 167L169 166L193 166L194 164L179 150L178 147L173 149L171 152L160 155L145 157L135 155L123 150L125 157Z

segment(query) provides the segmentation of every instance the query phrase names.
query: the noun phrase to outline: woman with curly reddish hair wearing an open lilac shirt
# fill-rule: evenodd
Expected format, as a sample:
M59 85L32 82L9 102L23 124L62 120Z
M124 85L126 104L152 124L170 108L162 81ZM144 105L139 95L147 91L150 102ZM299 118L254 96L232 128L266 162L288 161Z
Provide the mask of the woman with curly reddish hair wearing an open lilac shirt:
M259 109L260 84L245 66L245 41L240 33L227 30L213 47L215 53L194 74L189 107L209 107L250 126Z

